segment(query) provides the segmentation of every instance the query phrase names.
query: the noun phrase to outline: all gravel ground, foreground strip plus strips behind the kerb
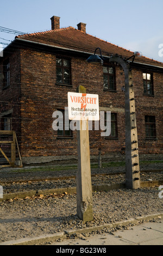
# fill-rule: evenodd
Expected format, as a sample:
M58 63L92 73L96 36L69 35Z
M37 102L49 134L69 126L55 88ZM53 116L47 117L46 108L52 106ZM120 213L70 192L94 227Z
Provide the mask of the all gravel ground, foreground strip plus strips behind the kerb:
M156 166L155 166L156 167ZM145 168L145 166L144 166ZM146 166L147 169L154 169L152 166ZM108 172L122 171L123 168L110 168ZM155 169L162 169L162 165L157 165ZM97 170L96 170L97 171ZM93 172L93 171L92 171ZM106 173L106 169L102 170ZM67 170L66 172L57 173L58 175L74 175L76 170ZM156 179L162 179L162 173L145 173L141 172L141 180L151 179L154 174ZM0 175L3 182L10 179L24 178L24 174L7 173L1 170ZM12 176L13 175L13 176ZM160 176L158 176L160 175ZM5 192L20 191L33 189L32 186L39 186L39 189L59 186L74 186L75 179L65 179L46 182L27 182L29 179L54 177L53 173L26 173L26 182L24 184L15 184L12 186L5 184ZM154 178L154 179L155 179ZM123 182L124 174L95 176L92 178L92 184L103 184L104 182ZM50 187L49 187L50 186ZM57 233L63 230L82 229L117 221L128 220L133 217L145 216L162 212L163 199L159 198L158 187L139 188L137 190L112 190L109 192L93 192L93 221L83 223L76 214L76 194L52 194L46 197L27 197L25 199L10 199L0 203L0 242L20 239L23 237L39 236L43 234ZM121 228L121 227L119 227ZM103 232L113 232L116 229L102 230Z

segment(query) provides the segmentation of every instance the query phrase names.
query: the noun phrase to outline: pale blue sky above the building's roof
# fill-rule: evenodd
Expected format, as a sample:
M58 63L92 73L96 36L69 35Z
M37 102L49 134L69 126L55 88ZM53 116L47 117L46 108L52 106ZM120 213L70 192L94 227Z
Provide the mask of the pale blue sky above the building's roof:
M163 62L162 10L162 0L1 0L0 27L24 33L47 31L51 17L59 16L61 28L77 28L83 22L86 33ZM3 47L15 36L0 28Z

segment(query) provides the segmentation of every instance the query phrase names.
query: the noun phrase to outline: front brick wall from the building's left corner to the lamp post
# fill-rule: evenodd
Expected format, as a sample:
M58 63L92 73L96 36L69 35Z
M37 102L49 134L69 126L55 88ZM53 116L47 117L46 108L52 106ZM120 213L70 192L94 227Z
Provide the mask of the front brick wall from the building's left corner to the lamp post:
M73 131L73 138L59 139L57 131L52 129L52 114L67 106L67 92L76 92L81 84L86 87L87 93L99 95L99 106L124 108L124 93L121 92L124 77L122 79L122 75L118 74L118 67L117 78L120 81L117 92L112 93L103 92L103 71L99 64L88 64L85 59L72 57L71 71L72 86L56 85L55 56L22 50L22 157L77 155L77 131ZM100 147L103 153L120 152L124 147L124 113L117 115L119 139L105 139L101 137L101 131L90 131L91 155L98 155Z

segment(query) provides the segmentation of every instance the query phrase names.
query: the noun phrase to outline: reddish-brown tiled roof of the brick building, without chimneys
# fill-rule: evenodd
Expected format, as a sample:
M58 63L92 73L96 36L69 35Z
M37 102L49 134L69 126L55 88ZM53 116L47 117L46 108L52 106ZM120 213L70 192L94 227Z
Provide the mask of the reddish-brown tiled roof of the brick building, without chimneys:
M18 35L15 38L39 42L49 46L65 47L76 51L84 51L94 53L97 47L101 48L103 56L111 56L118 54L122 57L129 58L134 52L126 50L123 47L111 44L110 42L96 38L90 34L79 31L73 27L60 28L45 32L37 32L32 34ZM147 58L145 56L135 57L134 63L142 63L163 68L163 63Z

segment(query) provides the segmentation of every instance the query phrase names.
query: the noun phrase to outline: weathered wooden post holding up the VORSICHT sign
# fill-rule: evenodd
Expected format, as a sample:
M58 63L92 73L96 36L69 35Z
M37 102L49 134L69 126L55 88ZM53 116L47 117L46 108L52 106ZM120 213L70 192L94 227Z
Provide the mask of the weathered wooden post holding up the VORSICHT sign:
M79 93L86 93L86 88L79 86ZM78 122L77 215L86 222L93 220L89 128L88 120Z

